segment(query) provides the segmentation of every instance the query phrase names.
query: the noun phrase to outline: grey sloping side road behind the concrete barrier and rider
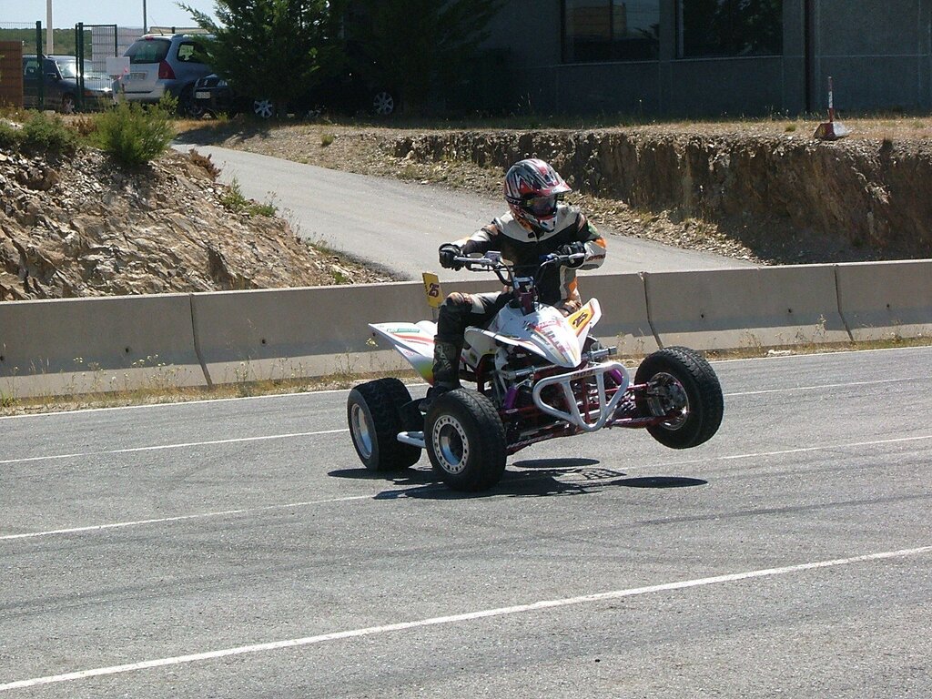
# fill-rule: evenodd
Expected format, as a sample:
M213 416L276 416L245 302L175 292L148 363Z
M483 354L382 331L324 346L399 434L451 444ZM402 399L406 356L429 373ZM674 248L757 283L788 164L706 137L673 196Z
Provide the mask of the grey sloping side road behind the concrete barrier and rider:
M177 145L188 150L190 145ZM467 192L327 170L245 151L198 146L221 168L220 180L235 178L242 193L273 201L297 233L323 242L402 278L420 280L424 271L442 281L465 280L468 271L440 269L441 243L468 236L505 212L503 200ZM748 262L661 245L612 233L600 272L675 271L747 267ZM583 272L585 274L585 272ZM473 273L474 276L474 273Z

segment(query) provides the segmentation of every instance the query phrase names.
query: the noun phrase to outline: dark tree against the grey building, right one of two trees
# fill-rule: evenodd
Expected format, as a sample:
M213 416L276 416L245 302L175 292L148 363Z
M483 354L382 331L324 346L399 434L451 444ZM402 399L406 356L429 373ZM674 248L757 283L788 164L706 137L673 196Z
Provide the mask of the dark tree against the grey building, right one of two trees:
M379 75L401 92L405 111L421 111L433 94L456 87L487 38L501 0L357 0L349 26Z

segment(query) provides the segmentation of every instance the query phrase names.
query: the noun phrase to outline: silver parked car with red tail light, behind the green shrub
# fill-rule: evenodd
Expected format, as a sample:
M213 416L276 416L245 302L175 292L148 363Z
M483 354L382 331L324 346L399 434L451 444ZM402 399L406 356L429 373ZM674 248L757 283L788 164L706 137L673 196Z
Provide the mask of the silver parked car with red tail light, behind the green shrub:
M120 78L120 92L130 102L157 103L166 94L178 99L178 111L192 117L200 112L194 102L194 84L212 73L203 51L190 34L145 34L124 56L130 72Z

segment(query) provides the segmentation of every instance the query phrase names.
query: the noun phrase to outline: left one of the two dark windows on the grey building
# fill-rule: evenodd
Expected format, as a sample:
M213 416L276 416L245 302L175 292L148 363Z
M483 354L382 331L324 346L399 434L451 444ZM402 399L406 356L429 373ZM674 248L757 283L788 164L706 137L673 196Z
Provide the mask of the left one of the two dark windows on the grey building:
M563 61L656 61L660 0L564 0Z

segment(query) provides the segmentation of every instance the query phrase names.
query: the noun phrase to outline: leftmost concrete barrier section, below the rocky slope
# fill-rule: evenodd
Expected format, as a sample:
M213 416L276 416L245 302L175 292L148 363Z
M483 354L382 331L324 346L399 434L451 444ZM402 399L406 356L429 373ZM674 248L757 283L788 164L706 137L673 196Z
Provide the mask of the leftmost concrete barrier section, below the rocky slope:
M190 295L0 303L7 396L202 385Z

